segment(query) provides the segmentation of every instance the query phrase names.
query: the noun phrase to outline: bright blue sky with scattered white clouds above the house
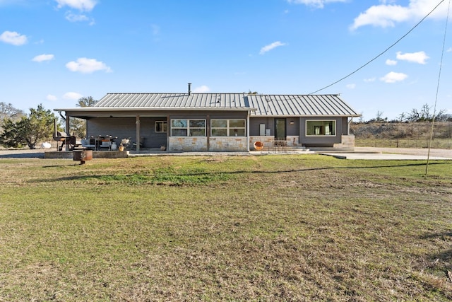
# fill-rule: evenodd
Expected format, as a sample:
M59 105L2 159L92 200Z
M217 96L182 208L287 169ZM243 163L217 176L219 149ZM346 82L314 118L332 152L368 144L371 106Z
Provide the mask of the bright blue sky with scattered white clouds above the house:
M448 4L347 79L364 120L452 114ZM408 33L441 0L0 0L0 102L28 112L106 93L307 94ZM448 24L452 28L452 23Z

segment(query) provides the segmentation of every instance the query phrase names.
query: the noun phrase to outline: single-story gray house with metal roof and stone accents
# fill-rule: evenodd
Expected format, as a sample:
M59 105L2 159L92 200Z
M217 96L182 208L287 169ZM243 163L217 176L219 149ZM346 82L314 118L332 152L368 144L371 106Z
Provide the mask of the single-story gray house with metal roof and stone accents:
M340 95L251 93L108 93L94 106L57 108L87 120L87 137L140 141L137 150L250 151L270 146L352 149L350 122L360 115Z

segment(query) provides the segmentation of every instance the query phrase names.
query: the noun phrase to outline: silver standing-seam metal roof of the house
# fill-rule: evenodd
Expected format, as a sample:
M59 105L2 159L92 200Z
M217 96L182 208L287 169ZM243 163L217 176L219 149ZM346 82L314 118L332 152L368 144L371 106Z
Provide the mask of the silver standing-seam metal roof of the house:
M359 117L340 95L249 95L246 93L108 93L93 109L250 110L251 116Z

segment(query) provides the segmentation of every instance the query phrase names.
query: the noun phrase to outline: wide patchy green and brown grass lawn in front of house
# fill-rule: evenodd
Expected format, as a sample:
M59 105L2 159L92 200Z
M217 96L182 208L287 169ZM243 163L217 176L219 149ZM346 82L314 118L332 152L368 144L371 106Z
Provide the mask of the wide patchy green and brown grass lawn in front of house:
M0 301L450 301L452 162L0 160Z

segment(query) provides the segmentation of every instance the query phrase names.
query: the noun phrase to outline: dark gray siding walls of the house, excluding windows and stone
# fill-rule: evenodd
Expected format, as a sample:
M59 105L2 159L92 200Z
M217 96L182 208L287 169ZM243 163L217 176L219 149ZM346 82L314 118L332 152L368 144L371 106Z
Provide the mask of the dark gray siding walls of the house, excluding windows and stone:
M117 113L117 112L116 112ZM245 111L171 111L171 112L136 112L140 116L140 137L143 148L160 148L166 146L168 149L177 148L169 146L169 121L172 119L200 119L206 120L206 132L210 135L210 120L212 119L247 119L248 112ZM153 115L155 114L155 115ZM98 137L99 135L111 135L118 137L117 143L123 138L131 138L136 141L136 117L118 116L109 117L109 112L104 112L102 117L90 117L87 120L88 137ZM298 145L333 147L343 143L343 137L348 135L347 117L250 117L249 135L250 137L260 136L260 124L265 124L265 129L270 129L270 137L275 133L275 118L286 119L286 136L292 140L295 138ZM307 120L335 120L336 129L334 136L312 137L306 135ZM168 133L155 132L156 121L167 121ZM293 124L290 124L293 122ZM172 144L177 140L171 140ZM253 143L253 141L251 141ZM230 143L228 143L230 145ZM295 143L294 143L295 144ZM218 149L220 145L211 146ZM252 144L251 144L252 146ZM184 148L185 149L185 148ZM202 148L201 148L202 149ZM218 150L216 150L218 151Z

